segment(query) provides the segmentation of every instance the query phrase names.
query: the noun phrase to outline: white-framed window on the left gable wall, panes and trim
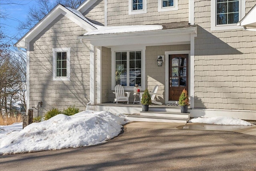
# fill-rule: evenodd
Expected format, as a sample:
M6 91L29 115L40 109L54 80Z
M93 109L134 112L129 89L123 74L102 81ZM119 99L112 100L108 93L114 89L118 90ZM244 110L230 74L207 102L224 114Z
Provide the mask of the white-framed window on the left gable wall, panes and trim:
M70 81L70 48L52 49L53 81Z

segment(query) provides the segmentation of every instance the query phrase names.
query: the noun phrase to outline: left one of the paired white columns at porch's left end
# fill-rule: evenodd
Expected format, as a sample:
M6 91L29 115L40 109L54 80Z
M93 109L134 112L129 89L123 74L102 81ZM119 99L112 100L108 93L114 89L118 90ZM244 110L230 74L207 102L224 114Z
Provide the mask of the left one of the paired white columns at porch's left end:
M90 102L91 105L95 104L95 84L96 84L96 55L95 55L95 46L91 44L90 46Z

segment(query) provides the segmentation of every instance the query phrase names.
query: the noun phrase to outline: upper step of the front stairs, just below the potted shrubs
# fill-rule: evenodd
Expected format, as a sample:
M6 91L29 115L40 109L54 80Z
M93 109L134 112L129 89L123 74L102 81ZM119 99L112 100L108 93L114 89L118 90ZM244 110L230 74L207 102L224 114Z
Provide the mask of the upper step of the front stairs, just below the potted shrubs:
M169 111L140 111L140 115L156 116L156 117L190 118L190 113L169 112Z

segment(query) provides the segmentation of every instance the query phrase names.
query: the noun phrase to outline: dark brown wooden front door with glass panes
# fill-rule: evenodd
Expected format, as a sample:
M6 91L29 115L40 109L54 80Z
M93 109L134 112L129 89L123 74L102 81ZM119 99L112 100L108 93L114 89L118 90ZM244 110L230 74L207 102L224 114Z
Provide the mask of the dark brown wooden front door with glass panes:
M169 55L169 101L178 101L188 91L188 54Z

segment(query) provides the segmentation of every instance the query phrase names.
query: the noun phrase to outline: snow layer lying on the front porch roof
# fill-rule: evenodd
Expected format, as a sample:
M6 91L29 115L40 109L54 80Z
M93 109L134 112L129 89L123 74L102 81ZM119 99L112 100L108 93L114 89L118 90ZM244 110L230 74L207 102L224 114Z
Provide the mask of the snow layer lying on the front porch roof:
M100 28L97 28L97 29L98 30L87 32L86 34L84 34L84 36L162 30L163 26L161 25L107 26L107 27L101 26Z

